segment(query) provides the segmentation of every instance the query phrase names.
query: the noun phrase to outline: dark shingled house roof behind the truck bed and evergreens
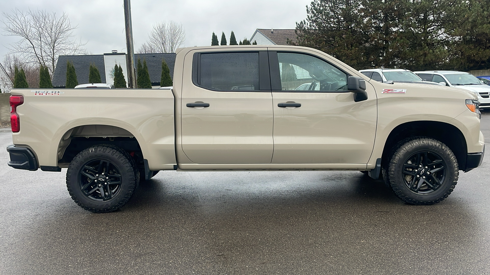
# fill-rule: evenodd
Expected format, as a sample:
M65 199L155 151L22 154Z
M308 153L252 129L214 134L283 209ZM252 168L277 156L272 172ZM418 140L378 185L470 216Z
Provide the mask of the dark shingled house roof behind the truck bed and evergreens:
M121 53L118 53L121 54ZM135 54L135 63L138 58L147 61L148 73L150 75L151 84L156 86L160 85L160 79L162 77L162 59L169 66L170 76L173 79L173 65L175 63L175 53L143 53ZM95 64L100 72L100 80L102 83L106 83L105 73L104 73L104 55L60 55L58 58L58 63L56 64L56 69L53 74L53 87L63 88L66 85L66 64L70 61L73 63L76 72L76 79L79 84L85 84L89 81L89 68L90 64ZM125 69L125 68L123 68ZM127 79L126 79L127 81Z

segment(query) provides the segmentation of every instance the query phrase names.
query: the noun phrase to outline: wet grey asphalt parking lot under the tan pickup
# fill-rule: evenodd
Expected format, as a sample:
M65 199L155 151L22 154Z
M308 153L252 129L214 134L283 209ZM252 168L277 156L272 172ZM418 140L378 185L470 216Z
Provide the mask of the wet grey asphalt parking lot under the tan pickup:
M490 274L488 154L433 206L360 172L167 171L94 214L1 148L0 274Z

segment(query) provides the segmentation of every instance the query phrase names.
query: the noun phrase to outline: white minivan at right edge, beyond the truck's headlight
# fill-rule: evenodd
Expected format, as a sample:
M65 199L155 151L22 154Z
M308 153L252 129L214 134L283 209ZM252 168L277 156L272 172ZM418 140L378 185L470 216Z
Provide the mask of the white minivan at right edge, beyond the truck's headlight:
M480 109L490 108L490 86L485 85L474 75L464 71L454 70L426 70L415 72L420 78L443 83L449 87L456 87L474 92L480 101Z

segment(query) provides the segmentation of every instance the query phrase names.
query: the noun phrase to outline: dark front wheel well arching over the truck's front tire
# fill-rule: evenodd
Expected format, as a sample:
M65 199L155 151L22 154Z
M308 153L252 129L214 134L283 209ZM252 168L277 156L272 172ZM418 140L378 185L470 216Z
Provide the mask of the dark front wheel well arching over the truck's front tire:
M405 138L427 137L435 138L446 144L458 160L459 169L466 169L466 139L456 127L440 121L411 121L396 126L388 136L382 155L382 165L388 164L393 146Z

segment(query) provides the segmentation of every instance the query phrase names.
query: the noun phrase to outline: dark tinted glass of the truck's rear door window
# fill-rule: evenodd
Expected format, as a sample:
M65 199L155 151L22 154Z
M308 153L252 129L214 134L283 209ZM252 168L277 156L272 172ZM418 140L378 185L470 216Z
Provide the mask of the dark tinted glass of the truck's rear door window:
M198 84L210 90L258 91L259 53L229 52L200 55Z

